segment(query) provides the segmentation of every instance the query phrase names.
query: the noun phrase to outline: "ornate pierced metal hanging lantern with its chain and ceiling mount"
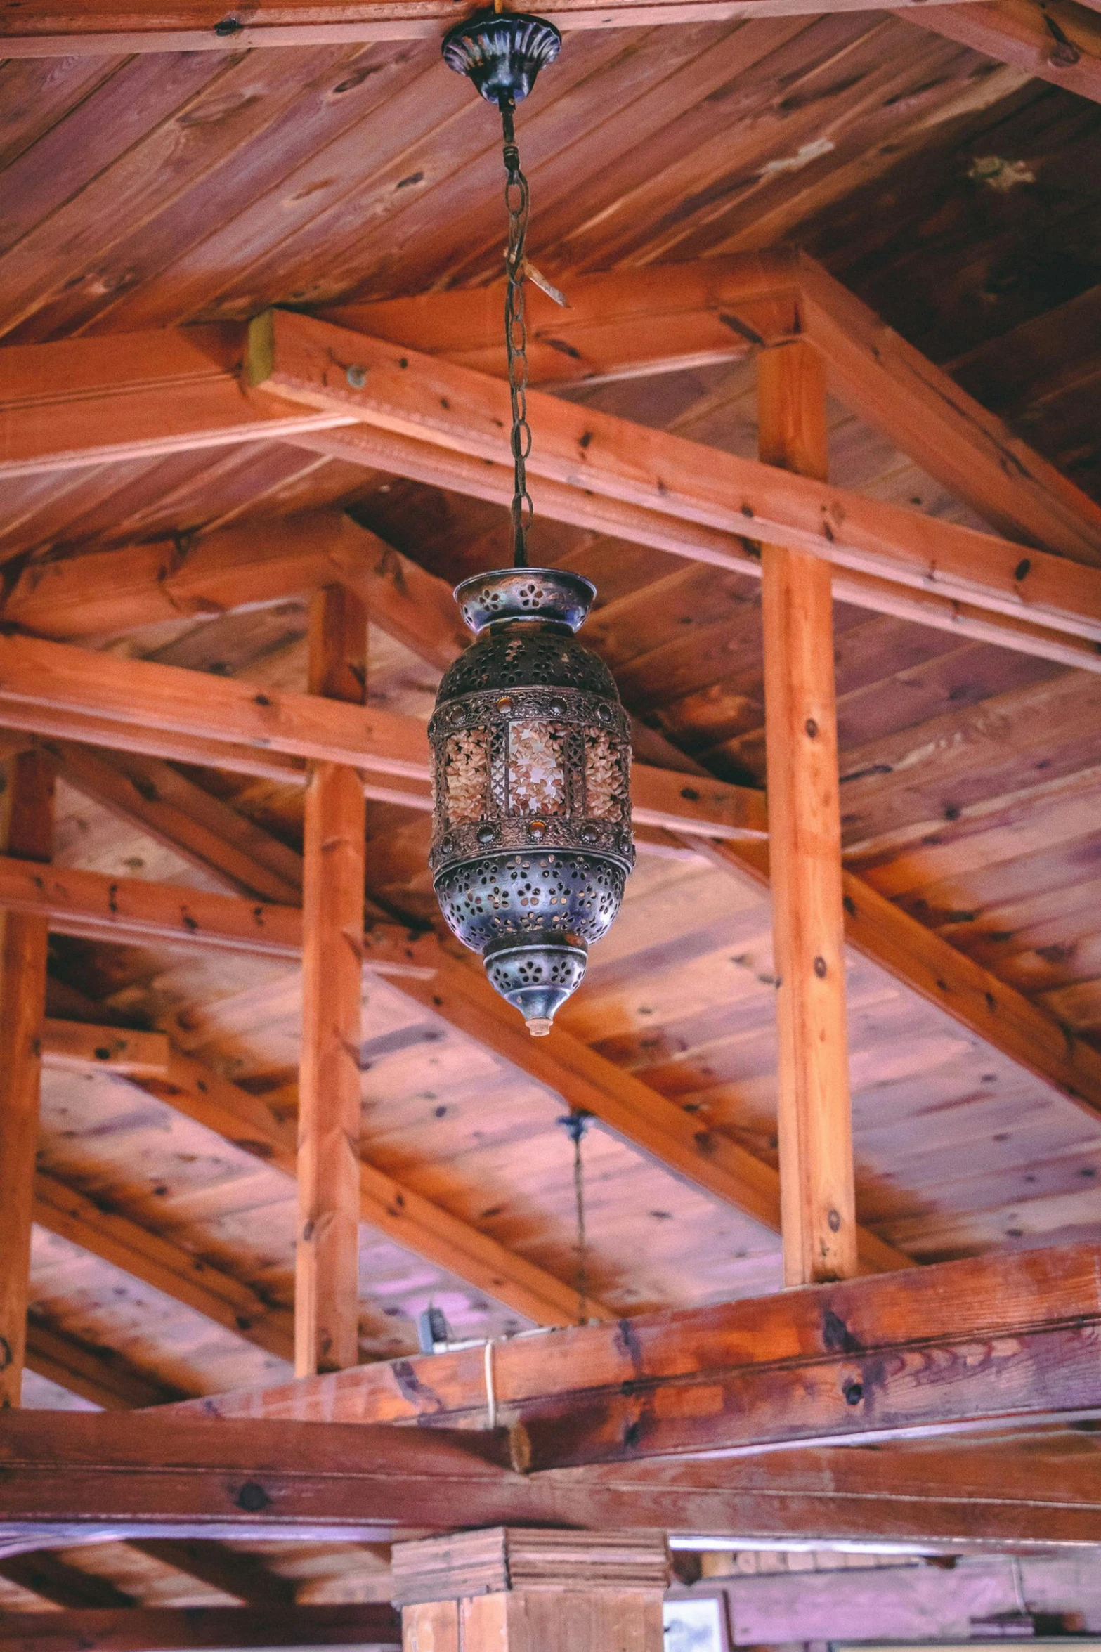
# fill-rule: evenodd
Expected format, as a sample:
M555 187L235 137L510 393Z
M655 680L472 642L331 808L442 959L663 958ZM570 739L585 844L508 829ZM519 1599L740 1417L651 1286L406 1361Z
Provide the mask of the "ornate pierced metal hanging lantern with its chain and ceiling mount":
M606 933L634 866L631 735L612 676L574 633L596 586L530 568L525 461L523 282L528 183L513 116L561 36L538 17L487 12L444 38L444 61L500 109L505 157L505 354L512 395L513 567L456 590L477 641L439 687L432 747L436 895L497 991L550 1032L579 986L588 945Z

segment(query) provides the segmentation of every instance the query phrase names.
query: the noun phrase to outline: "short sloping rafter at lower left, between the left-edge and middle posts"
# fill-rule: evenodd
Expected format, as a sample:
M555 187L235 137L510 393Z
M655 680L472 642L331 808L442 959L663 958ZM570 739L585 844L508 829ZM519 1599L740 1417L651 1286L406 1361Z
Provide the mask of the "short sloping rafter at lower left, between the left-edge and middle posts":
M45 1042L50 1064L50 1034ZM191 1256L170 1239L140 1227L116 1211L104 1211L76 1188L38 1171L33 1221L89 1251L145 1285L183 1302L216 1325L244 1336L281 1360L294 1358L291 1315L272 1308L248 1285Z

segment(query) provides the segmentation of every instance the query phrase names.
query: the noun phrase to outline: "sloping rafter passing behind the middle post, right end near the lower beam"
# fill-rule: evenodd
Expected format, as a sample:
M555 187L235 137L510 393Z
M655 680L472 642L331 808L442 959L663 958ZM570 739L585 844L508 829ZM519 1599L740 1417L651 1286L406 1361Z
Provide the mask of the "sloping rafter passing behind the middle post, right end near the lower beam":
M0 897L2 899L2 897ZM91 1069L112 1066L114 1041L132 1037L114 1028L83 1028L76 1023L48 1021L43 1041L43 1061L51 1066L58 1057L66 1066L81 1059ZM150 1039L158 1034L139 1034ZM297 1138L295 1127L277 1117L261 1097L249 1095L238 1084L221 1077L213 1067L185 1056L165 1039L165 1066L150 1070L152 1062L134 1082L152 1095L168 1102L177 1112L246 1153L258 1155L269 1168L295 1176ZM127 1051L119 1056L127 1062ZM122 1069L125 1072L125 1066ZM565 1325L576 1312L576 1290L555 1279L535 1262L507 1251L489 1234L431 1199L403 1186L393 1176L360 1161L360 1218L368 1227L386 1234L395 1244L436 1267L452 1272L497 1302L523 1315L536 1325ZM129 1226L129 1224L127 1224ZM91 1236L89 1236L91 1239ZM78 1241L83 1242L83 1241ZM89 1244L91 1249L91 1244ZM172 1279L162 1277L160 1289L172 1294ZM251 1294L249 1294L251 1295ZM218 1317L216 1305L211 1317ZM594 1318L611 1320L609 1308L589 1300ZM135 1401L154 1404L154 1399Z

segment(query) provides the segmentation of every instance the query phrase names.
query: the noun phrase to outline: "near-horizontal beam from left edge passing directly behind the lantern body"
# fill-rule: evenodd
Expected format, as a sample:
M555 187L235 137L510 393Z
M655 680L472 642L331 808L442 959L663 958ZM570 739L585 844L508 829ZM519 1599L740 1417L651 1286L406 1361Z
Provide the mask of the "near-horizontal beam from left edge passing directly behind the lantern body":
M277 778L300 775L287 760L340 763L365 771L366 796L431 808L428 733L414 717L66 643L0 636L0 727ZM642 826L706 838L768 833L764 793L748 786L637 763L632 795Z

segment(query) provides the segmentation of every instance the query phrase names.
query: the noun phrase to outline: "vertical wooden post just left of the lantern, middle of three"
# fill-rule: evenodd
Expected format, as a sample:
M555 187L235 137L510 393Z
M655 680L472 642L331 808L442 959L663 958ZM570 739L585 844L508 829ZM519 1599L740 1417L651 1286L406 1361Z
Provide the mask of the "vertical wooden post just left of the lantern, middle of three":
M312 694L361 704L366 611L333 585L310 606ZM366 814L353 768L314 763L305 788L297 1376L358 1361L360 1019Z

